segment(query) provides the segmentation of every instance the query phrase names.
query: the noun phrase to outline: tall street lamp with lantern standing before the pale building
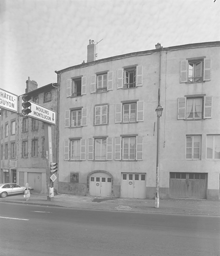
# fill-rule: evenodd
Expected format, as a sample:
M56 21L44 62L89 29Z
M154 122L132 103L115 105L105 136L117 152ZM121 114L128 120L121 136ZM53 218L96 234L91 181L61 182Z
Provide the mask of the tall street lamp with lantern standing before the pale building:
M156 138L156 192L155 192L155 208L159 208L159 117L162 115L162 107L159 103L159 91L158 91L158 105L155 109L157 115L157 138Z

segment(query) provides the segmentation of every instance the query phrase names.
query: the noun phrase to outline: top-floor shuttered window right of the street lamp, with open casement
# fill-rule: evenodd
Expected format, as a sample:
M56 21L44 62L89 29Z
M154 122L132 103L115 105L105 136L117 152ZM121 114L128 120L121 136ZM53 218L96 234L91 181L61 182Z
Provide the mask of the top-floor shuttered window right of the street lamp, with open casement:
M180 61L180 83L181 82L203 82L211 79L211 59L192 58Z

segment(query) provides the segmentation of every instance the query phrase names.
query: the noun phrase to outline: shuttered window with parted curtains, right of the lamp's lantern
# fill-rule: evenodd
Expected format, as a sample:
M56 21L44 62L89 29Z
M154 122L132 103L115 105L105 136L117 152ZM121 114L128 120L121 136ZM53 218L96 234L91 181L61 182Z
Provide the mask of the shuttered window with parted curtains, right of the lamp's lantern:
M178 98L177 119L211 118L211 96L186 96Z

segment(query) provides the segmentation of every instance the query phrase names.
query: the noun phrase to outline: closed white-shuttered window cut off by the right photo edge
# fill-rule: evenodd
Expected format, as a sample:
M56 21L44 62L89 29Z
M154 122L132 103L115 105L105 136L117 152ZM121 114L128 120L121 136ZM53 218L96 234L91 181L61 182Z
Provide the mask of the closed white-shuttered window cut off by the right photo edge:
M220 159L220 135L207 135L206 158Z

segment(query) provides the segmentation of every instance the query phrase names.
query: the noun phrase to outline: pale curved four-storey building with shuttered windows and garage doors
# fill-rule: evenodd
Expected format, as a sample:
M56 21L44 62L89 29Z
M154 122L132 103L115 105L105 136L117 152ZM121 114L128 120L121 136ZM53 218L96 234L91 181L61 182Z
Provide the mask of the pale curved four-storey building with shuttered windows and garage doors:
M61 193L154 198L156 112L160 198L219 198L220 42L87 62L57 73Z

